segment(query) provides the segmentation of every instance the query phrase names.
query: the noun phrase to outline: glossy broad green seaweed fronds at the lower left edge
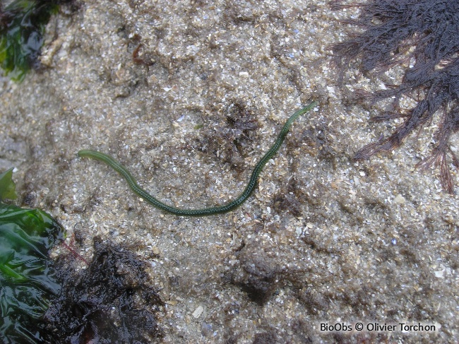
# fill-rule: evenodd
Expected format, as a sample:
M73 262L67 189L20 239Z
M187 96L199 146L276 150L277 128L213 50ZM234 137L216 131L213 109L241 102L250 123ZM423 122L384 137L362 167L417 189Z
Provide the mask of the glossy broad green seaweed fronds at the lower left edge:
M0 343L44 343L42 315L60 290L48 252L64 230L40 209L3 203L16 198L11 172L0 174Z

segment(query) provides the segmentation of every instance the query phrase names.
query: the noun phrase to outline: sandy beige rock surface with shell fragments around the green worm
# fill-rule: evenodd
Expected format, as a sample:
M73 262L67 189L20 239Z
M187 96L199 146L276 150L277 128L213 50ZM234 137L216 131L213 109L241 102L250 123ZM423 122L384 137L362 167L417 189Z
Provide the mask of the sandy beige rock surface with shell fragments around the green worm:
M338 21L350 16L357 9L294 0L62 8L44 68L1 81L1 170L17 168L20 201L52 213L87 261L98 236L148 263L165 302L161 343L457 342L459 198L414 168L434 124L391 154L352 160L393 128L368 122L384 104L344 96L380 79L351 68L336 85L329 47L357 30ZM254 195L224 215L167 215L76 156L110 153L157 198L213 206L242 191L311 100ZM359 322L437 331L320 331Z

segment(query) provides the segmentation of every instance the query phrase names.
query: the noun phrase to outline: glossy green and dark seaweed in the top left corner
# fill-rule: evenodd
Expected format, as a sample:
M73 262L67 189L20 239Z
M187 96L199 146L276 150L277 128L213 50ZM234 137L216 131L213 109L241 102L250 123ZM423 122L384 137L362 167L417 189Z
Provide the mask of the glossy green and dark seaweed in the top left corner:
M38 66L43 33L59 0L14 0L0 5L0 64L13 80L22 81Z

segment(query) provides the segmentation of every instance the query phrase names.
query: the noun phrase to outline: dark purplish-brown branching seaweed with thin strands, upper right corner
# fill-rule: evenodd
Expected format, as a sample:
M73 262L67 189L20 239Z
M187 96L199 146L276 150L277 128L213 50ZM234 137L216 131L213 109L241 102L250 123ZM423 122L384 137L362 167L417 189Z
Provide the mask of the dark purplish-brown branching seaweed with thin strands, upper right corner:
M356 159L398 148L405 138L429 124L436 112L441 119L430 155L417 164L427 169L439 167L443 188L453 194L450 163L459 167L459 160L448 141L459 129L459 1L457 0L374 0L366 4L342 4L333 1L333 9L360 7L359 18L347 20L364 32L333 45L335 61L341 67L339 81L350 61L362 58L364 73L383 73L394 66L406 66L400 85L366 93L357 90L361 100L391 100L386 112L372 121L403 119L391 136L364 146ZM417 100L415 107L403 109L400 99ZM451 160L448 159L451 157Z

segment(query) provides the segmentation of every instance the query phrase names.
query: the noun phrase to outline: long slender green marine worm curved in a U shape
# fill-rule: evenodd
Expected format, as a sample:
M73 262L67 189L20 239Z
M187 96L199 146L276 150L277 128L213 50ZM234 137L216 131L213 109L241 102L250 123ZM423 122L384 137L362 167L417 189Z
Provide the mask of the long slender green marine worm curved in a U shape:
M244 191L242 191L242 194L240 194L239 197L237 197L233 201L223 204L222 206L215 206L202 209L181 209L173 206L168 206L167 204L162 203L160 200L148 194L147 191L142 189L141 186L137 184L137 181L133 177L131 172L129 172L126 169L126 167L117 162L117 160L114 160L114 158L112 158L110 155L97 152L97 150L83 149L78 152L78 156L80 156L81 158L92 158L95 160L105 162L105 164L109 165L109 167L112 167L113 170L121 174L121 177L123 177L126 180L126 182L129 184L129 187L132 191L134 191L134 193L136 193L138 196L150 203L152 206L164 210L167 213L172 213L174 215L179 216L207 216L227 213L228 211L234 210L235 208L240 206L242 203L246 201L247 198L249 198L251 193L256 188L258 176L260 175L261 170L263 170L263 167L266 165L266 162L273 158L275 153L279 150L279 147L282 145L285 136L287 136L287 133L290 130L290 126L292 126L292 123L302 114L305 114L306 112L309 112L309 110L314 109L316 105L317 102L311 102L311 104L307 105L306 107L303 107L302 109L299 109L297 112L292 114L292 116L289 119L287 119L287 122L284 124L284 126L282 126L282 130L280 131L278 138L276 139L273 146L268 150L268 152L266 152L265 155L263 155L263 158L261 158L260 161L256 164L254 171L250 176L249 183L247 184Z

